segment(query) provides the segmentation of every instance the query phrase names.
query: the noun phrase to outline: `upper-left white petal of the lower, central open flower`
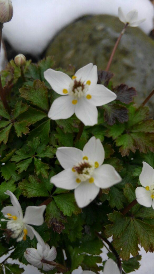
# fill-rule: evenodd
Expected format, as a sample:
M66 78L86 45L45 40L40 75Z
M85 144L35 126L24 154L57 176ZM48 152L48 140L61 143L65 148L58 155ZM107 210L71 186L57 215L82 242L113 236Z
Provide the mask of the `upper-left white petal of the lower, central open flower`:
M75 147L59 147L56 156L61 166L64 169L69 169L82 161L83 152Z

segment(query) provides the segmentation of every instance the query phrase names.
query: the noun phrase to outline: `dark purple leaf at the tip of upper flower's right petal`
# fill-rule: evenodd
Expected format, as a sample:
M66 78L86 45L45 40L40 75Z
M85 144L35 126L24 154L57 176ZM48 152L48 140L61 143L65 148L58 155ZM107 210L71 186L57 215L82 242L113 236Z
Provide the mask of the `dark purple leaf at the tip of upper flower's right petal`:
M116 93L117 98L120 102L129 104L133 101L133 97L137 95L136 89L134 87L128 87L125 84L121 84L113 89L113 92Z

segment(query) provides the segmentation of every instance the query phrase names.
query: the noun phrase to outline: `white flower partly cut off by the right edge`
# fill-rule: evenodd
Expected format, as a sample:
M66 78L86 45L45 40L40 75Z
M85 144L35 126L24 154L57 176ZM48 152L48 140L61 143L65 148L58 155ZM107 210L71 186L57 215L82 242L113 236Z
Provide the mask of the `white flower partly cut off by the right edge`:
M143 162L143 169L139 179L143 187L136 188L136 200L142 206L152 206L154 209L154 169L146 162Z

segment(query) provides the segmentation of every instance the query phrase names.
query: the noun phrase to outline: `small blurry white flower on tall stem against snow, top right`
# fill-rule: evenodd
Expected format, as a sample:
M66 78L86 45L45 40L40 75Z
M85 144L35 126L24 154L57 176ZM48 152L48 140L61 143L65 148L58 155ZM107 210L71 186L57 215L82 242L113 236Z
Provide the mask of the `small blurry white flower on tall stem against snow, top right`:
M146 19L141 19L137 21L138 18L138 11L137 10L131 10L127 15L124 15L121 7L118 8L118 17L121 22L124 24L129 24L130 27L138 27L142 22L144 22Z

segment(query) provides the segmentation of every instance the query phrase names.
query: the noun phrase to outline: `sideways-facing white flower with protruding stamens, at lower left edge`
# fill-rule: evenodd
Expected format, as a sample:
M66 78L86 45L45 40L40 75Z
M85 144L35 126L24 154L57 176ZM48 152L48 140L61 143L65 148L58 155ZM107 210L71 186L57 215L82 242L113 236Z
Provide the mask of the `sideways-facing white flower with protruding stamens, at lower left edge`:
M8 220L1 219L1 221L7 221L7 229L11 232L11 238L19 242L22 239L26 240L26 235L28 235L30 239L33 239L38 233L29 224L35 226L43 224L43 212L46 206L28 206L23 217L22 208L16 196L10 190L7 190L5 194L10 196L13 206L6 206L1 210L4 217L8 218Z

